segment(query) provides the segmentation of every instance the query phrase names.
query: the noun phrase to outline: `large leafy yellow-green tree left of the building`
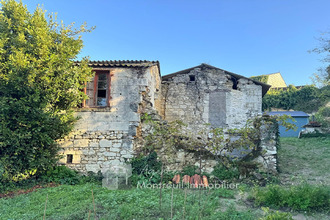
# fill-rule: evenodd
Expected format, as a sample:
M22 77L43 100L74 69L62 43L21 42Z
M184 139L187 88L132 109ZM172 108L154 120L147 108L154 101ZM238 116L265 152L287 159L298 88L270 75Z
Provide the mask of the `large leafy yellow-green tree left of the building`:
M91 69L87 58L80 65L74 59L81 33L91 29L58 23L40 7L30 13L22 2L1 5L0 170L10 179L56 163L56 140L72 129L72 109L86 98Z

